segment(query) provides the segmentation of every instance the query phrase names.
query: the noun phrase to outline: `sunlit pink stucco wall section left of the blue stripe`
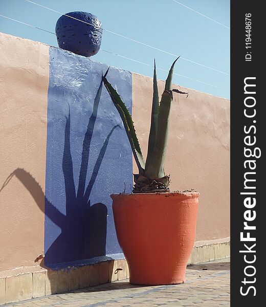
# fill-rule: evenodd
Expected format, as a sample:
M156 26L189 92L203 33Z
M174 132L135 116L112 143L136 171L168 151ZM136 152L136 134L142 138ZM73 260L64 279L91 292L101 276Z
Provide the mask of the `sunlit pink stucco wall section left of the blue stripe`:
M35 266L43 253L44 197L24 186L32 183L22 169L45 190L49 46L0 33L0 54L2 271Z

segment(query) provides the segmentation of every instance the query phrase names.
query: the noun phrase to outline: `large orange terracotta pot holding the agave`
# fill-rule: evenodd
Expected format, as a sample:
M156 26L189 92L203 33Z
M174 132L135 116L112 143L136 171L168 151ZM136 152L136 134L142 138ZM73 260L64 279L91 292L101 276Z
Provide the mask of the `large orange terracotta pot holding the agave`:
M118 242L132 284L177 284L195 240L200 193L112 194Z

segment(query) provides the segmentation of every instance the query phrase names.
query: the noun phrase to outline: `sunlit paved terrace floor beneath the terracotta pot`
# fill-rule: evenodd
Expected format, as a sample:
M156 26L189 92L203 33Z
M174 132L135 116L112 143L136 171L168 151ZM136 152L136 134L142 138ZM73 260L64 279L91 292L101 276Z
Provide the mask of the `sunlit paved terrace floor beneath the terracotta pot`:
M230 258L187 268L186 283L144 287L128 280L54 294L5 306L204 306L230 305Z

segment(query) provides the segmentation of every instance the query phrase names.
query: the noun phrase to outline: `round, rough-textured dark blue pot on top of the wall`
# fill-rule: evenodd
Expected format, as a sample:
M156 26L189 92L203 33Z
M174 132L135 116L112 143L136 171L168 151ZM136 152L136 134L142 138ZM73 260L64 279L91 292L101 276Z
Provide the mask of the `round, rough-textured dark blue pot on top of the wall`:
M58 46L86 57L95 55L101 46L101 21L97 16L86 12L71 12L65 15L57 20L55 27Z

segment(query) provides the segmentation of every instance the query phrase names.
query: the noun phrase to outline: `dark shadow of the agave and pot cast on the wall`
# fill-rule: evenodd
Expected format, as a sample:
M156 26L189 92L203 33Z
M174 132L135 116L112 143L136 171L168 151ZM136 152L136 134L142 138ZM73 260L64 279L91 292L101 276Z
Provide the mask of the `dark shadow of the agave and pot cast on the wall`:
M33 176L22 168L15 169L4 182L2 189L9 183L13 176L23 183L31 193L38 207L46 216L61 229L60 235L54 240L45 253L45 265L66 261L87 259L97 256L105 256L107 207L103 203L91 206L90 195L97 178L107 145L113 131L119 126L114 126L107 135L94 165L92 175L86 185L90 147L97 118L97 111L102 92L102 82L97 91L93 104L93 112L88 121L86 133L82 145L81 166L79 171L79 183L76 191L73 173L73 160L71 155L70 135L71 116L66 117L64 130L64 147L62 169L65 186L65 214L60 212L45 196L38 182ZM43 203L45 199L45 207ZM66 253L67 251L67 253ZM50 261L52 259L52 261ZM37 261L37 260L36 260ZM41 261L43 265L43 260Z

